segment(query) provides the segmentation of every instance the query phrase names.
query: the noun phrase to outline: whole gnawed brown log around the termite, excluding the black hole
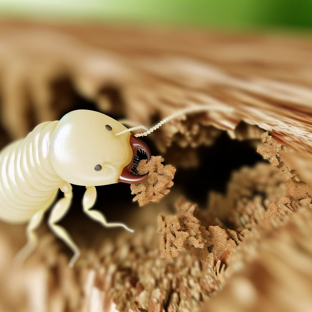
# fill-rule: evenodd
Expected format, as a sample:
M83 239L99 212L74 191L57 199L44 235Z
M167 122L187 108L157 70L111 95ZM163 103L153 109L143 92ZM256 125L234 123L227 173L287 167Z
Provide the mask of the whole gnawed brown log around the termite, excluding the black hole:
M160 156L139 163L139 174L149 174L129 187L134 204L101 203L117 218L126 211L134 233L67 221L81 246L73 269L71 252L45 226L25 266L13 268L25 227L1 223L0 311L311 310L308 36L0 25L0 118L11 139L83 105L148 127L180 109L206 110L149 134ZM174 174L198 168L198 151L222 131L248 140L268 162L233 170L225 193L210 191L199 208L173 185ZM83 244L86 231L93 240Z

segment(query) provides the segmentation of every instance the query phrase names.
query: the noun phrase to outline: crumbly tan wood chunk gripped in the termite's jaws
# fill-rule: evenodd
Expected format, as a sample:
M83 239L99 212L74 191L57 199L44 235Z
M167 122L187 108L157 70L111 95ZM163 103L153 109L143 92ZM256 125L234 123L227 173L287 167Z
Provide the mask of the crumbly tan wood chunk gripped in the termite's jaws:
M173 186L173 178L176 168L172 165L163 165L161 156L152 156L149 162L141 160L137 170L140 175L149 175L140 183L130 185L131 194L136 196L133 201L138 201L140 206L148 202L159 202L160 199L170 192Z

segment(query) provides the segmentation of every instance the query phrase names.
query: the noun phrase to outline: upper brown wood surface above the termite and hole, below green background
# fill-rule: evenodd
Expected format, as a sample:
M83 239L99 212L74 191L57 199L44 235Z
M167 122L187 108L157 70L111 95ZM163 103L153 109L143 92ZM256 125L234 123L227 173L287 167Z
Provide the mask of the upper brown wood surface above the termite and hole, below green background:
M67 77L99 110L145 125L191 105L210 107L205 126L234 133L242 120L257 125L292 149L287 162L312 184L308 35L2 21L0 46L1 119L13 138L28 133L29 120L60 117L51 84ZM120 92L121 107L108 87ZM167 148L179 122L161 131L158 146Z

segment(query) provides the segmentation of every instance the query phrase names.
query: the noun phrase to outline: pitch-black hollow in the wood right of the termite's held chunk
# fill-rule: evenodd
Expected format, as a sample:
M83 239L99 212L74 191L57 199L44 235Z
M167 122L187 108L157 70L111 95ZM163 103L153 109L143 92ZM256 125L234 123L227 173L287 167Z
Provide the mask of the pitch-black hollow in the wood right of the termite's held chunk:
M267 162L247 140L233 140L226 132L212 146L200 147L198 153L200 166L195 169L178 168L173 181L185 197L201 207L207 206L210 191L225 194L234 170L260 161Z

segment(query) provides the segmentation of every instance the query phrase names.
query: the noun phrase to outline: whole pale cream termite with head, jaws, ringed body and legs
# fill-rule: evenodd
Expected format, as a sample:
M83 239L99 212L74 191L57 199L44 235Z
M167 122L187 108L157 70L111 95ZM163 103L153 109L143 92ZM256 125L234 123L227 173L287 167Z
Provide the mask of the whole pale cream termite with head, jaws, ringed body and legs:
M0 219L10 223L26 223L27 244L17 254L23 261L37 246L35 230L45 212L54 202L58 189L64 197L51 210L48 224L52 232L74 252L69 263L73 266L80 255L69 233L56 222L65 216L72 199L72 184L83 185L86 192L84 212L105 227L121 226L108 223L104 215L90 210L96 200L95 186L117 182L137 183L146 175L130 173L137 149L146 144L109 116L90 111L75 110L60 121L37 125L25 139L7 145L0 152Z

